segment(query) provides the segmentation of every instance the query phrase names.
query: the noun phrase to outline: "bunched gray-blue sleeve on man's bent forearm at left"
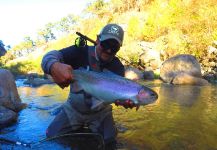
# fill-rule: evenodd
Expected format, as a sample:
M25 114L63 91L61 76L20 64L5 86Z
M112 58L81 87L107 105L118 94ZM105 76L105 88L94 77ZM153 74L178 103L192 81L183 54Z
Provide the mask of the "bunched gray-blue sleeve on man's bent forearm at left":
M62 62L62 53L56 50L48 52L42 59L41 67L46 74L50 74L50 68L55 62Z

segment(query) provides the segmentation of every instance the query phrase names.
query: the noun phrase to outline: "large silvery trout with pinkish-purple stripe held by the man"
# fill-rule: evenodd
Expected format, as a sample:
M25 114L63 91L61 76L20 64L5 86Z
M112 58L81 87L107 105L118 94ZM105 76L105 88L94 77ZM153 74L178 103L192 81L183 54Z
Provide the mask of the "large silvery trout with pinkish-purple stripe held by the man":
M73 70L77 89L83 90L104 103L137 107L154 103L158 94L142 84L111 71L96 72L85 69Z

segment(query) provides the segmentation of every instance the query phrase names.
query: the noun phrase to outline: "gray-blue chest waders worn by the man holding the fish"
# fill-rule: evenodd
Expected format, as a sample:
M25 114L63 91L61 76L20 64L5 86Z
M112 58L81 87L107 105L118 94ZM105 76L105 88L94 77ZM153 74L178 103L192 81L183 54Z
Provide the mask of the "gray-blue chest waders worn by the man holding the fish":
M87 69L100 72L102 68L95 55L95 47L88 47ZM112 116L112 106L100 104L100 109L92 109L95 100L85 93L76 94L71 84L68 100L63 104L62 112L56 116L47 133L52 136L88 127L93 133L102 135L105 143L115 141L117 130Z

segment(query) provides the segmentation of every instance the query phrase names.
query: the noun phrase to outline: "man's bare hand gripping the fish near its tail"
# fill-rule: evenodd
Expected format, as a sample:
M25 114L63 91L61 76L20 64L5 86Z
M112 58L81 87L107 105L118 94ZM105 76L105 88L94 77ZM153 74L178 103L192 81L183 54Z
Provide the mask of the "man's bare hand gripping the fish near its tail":
M50 69L54 81L62 88L69 86L73 80L72 67L67 64L55 62Z

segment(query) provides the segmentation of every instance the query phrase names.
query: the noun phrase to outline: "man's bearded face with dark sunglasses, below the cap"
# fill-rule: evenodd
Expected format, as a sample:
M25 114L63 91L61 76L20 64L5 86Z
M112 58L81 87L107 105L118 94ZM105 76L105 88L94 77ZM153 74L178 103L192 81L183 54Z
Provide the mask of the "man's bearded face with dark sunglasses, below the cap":
M110 62L119 49L120 45L116 40L108 39L97 44L96 52L101 61Z

